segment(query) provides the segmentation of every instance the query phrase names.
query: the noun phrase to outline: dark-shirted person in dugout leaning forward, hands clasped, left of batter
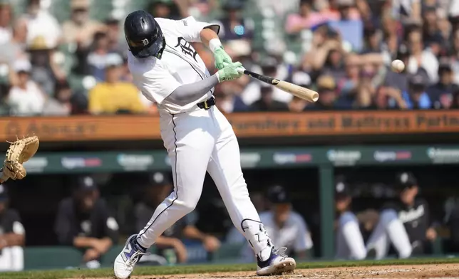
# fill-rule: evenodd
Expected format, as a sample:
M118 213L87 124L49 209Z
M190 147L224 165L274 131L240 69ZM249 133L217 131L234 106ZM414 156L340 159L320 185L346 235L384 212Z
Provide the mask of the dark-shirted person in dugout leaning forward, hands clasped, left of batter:
M81 249L83 263L97 268L100 257L118 241L118 223L105 200L99 198L92 177L78 177L73 183L73 196L58 206L54 230L61 245Z

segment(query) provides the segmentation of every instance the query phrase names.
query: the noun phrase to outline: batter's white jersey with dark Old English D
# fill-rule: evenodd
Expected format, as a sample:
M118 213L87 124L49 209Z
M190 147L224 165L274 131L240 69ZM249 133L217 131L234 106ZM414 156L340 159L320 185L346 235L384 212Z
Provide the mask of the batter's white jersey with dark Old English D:
M212 97L214 89L195 102L180 106L167 102L170 93L180 85L195 83L210 77L204 61L197 54L190 42L200 42L200 32L203 28L218 31L220 26L196 21L192 16L174 21L171 19L155 19L166 41L166 47L161 59L153 56L149 58L135 58L128 51L128 66L133 75L133 83L142 94L151 102L156 102L160 110L177 114L195 109L198 102Z

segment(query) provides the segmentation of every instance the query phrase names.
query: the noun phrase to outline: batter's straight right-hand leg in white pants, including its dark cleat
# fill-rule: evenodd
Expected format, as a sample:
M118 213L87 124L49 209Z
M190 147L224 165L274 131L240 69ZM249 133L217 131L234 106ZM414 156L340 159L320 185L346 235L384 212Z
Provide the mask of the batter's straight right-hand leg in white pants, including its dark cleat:
M239 145L231 125L216 108L215 118L221 129L207 171L217 185L234 226L249 241L257 255L257 274L268 275L293 270L294 259L274 249L252 204L242 175Z

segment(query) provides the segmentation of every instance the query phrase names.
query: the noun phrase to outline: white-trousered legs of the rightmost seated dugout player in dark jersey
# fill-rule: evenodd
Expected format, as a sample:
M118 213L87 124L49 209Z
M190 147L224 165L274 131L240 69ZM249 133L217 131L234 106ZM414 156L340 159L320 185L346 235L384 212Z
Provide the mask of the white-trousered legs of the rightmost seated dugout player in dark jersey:
M367 251L373 249L376 259L387 256L390 243L396 248L400 258L411 256L411 244L403 223L398 220L396 211L386 209L381 212L379 222L366 243Z

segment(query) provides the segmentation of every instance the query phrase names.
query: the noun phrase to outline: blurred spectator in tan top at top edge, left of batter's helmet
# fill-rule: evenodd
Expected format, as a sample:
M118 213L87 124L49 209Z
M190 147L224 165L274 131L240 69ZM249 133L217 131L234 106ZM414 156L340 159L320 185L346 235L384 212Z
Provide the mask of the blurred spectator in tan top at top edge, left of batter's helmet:
M89 19L89 0L71 0L71 18L63 23L62 33L66 43L77 43L86 48L93 41L94 34L103 31L104 26Z

